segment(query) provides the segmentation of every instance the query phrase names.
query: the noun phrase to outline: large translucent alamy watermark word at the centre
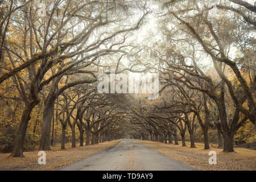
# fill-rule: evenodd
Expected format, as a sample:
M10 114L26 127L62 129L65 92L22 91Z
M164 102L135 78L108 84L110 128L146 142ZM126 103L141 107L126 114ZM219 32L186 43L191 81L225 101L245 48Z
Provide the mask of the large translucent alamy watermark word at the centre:
M127 93L128 87L129 93L150 95L148 96L148 100L156 100L159 96L158 74L147 75L141 73L140 76L129 75L129 79L127 79L127 76L123 73L115 75L115 70L112 69L110 71L110 79L106 73L101 73L97 79L100 81L97 87L99 93ZM127 80L129 83L127 83Z

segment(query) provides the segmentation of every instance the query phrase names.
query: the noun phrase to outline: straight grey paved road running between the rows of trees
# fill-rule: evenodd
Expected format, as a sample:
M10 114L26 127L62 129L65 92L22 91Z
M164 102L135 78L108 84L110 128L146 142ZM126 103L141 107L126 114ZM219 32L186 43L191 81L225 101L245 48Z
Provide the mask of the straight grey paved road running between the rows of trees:
M134 140L126 139L77 163L59 170L81 171L180 171L195 170Z

